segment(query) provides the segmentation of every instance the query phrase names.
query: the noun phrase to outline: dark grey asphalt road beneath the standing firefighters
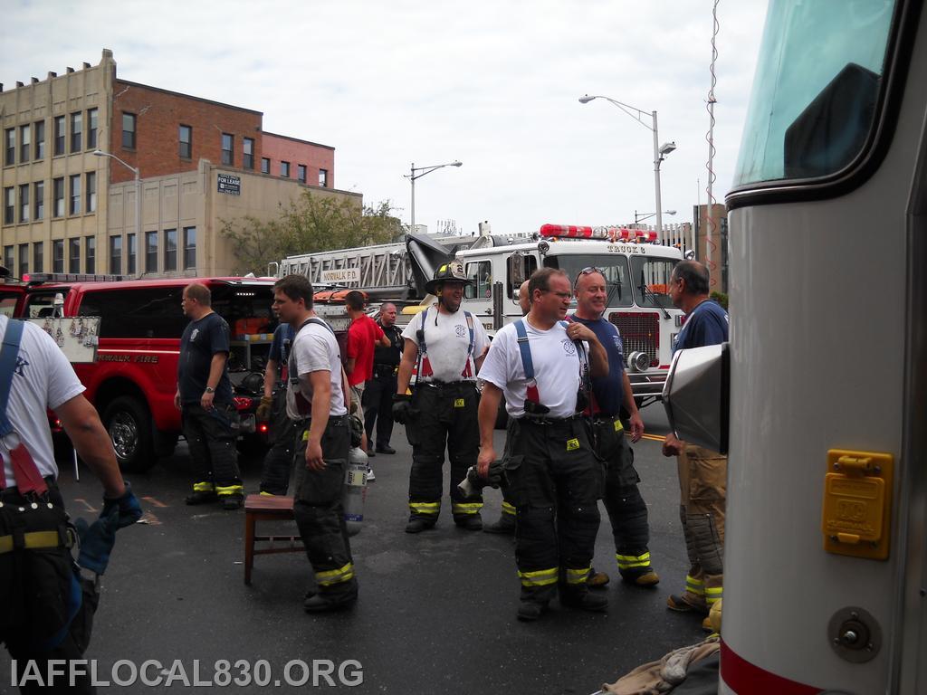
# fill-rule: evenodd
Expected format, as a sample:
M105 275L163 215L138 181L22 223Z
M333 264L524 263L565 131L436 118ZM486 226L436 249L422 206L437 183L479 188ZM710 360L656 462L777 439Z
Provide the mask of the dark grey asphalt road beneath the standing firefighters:
M659 405L643 415L648 435L667 432ZM503 436L497 432L498 450ZM136 682L100 691L188 692L194 662L201 680L214 680L219 660L246 660L252 676L270 678L267 686L232 684L218 688L223 691L301 692L307 687L287 685L286 676L292 681L305 673L318 676L320 689L331 689L325 664L313 667L313 660L320 660L334 662L329 677L337 688L358 693L588 695L603 682L704 637L698 618L666 609L667 593L683 586L687 562L675 460L660 454L659 441L641 440L635 451L660 585L643 589L616 581L615 548L603 511L595 564L613 577L606 589L609 611L580 613L554 603L534 624L515 620L518 580L511 538L458 530L447 498L435 530L403 533L411 449L400 428L392 444L396 455L371 461L376 482L367 493L362 532L351 538L360 600L346 613L303 612L312 580L302 553L259 556L252 585L245 586L245 514L184 505L190 480L183 442L170 460L133 476L146 517L120 531L86 656L98 660L97 673L104 679L119 660L135 667L146 660L163 664L164 672L149 666L149 679L164 678L179 660L173 673L183 668L191 686L180 679L170 687ZM260 458L242 457L242 464L247 490L257 491ZM78 483L70 461L60 465L71 515L94 517L99 487L86 470ZM446 485L447 474L445 466ZM497 491L488 490L484 520L498 518L500 501ZM289 526L281 530L288 533ZM265 664L256 665L259 660L269 674ZM340 677L339 663L345 663ZM131 677L132 668L124 664L120 676ZM232 674L244 681L242 668ZM312 682L310 677L308 686ZM12 691L4 660L0 692Z

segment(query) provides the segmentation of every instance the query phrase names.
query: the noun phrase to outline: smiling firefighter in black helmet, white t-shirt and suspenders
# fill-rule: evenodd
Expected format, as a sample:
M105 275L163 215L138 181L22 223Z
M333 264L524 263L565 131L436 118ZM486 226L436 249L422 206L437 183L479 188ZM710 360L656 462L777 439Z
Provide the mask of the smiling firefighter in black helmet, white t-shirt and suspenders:
M467 469L476 465L476 372L489 345L482 323L461 310L464 285L468 284L472 283L459 261L442 265L425 284L425 291L438 297L437 306L415 316L402 332L405 347L393 397L393 419L406 425L413 447L406 533L420 533L438 521L445 448L451 460L454 523L468 531L483 527L482 495L464 498L456 485ZM416 364L415 393L410 397L406 391Z

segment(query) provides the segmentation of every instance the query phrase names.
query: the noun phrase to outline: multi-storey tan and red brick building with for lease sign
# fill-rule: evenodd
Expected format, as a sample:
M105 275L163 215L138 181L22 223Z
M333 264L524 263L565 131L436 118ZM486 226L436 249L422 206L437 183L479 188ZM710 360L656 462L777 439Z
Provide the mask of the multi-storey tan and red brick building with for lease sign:
M95 66L0 84L3 264L20 276L234 274L222 221L269 219L307 189L362 204L334 189L334 147L264 133L262 120L121 80L107 49Z

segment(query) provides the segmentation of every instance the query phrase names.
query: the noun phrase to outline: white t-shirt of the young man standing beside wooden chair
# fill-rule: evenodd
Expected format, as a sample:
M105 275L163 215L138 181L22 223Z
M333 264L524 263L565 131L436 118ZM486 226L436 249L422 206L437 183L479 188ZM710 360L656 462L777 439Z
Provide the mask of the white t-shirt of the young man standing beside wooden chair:
M296 360L299 374L298 389L305 398L302 408L297 405L297 388L292 381L286 387L286 414L293 420L302 420L311 416L312 384L310 373L328 372L332 384L332 400L328 407L328 414L334 417L345 415L345 396L341 387L341 353L338 350L338 341L335 335L318 323L308 323L303 326L293 339L290 347L292 360ZM295 376L290 373L291 379Z

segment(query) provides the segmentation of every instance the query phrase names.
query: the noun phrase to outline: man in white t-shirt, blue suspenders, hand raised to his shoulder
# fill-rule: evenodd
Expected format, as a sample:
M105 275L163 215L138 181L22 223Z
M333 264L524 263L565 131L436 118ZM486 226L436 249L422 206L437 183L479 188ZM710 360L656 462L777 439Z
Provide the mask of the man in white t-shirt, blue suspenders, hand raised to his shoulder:
M587 586L604 468L592 451L590 428L580 413L589 376L608 374L608 358L596 335L563 321L570 280L542 268L528 284L527 317L504 326L480 372L479 473L495 461L493 425L500 398L515 419L503 468L518 523L515 562L521 579L518 619L537 620L558 592L564 605L603 611L608 600Z

